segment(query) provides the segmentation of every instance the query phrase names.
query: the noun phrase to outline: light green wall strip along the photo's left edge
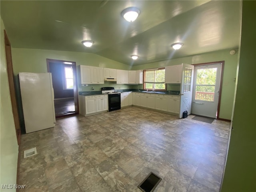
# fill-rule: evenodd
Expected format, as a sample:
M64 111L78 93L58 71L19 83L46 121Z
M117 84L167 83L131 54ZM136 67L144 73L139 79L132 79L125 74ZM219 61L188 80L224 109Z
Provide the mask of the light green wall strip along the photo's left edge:
M4 47L4 23L0 27L0 187L2 184L16 184L18 142L16 138L12 104L9 91L8 75L6 71L6 57ZM0 191L16 191L15 189Z

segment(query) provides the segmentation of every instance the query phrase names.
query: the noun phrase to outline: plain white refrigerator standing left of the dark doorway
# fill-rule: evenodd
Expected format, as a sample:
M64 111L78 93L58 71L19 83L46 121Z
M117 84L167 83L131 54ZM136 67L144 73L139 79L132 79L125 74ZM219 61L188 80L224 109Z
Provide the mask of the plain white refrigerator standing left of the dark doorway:
M19 73L26 133L54 127L54 92L51 73Z

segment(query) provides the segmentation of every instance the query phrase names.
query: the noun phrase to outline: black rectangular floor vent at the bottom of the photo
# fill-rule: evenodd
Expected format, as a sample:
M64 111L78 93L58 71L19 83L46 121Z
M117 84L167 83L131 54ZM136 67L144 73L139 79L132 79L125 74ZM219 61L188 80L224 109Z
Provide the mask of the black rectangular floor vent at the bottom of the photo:
M152 192L162 179L156 174L150 172L148 176L138 185L143 192Z

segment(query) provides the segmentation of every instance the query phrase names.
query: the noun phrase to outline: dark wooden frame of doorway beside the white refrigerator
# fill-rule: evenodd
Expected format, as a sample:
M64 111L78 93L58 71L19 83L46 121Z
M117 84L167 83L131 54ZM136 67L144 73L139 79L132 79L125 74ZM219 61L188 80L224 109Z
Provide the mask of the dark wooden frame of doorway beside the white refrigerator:
M76 62L74 61L65 61L65 60L56 60L56 59L46 59L47 63L47 72L50 72L50 63L64 63L70 62L72 63L73 67L73 75L74 75L74 103L75 103L75 112L72 114L67 115L60 115L56 116L56 118L66 117L66 116L73 116L79 114L79 104L78 104L78 81L77 81L77 73L76 73Z

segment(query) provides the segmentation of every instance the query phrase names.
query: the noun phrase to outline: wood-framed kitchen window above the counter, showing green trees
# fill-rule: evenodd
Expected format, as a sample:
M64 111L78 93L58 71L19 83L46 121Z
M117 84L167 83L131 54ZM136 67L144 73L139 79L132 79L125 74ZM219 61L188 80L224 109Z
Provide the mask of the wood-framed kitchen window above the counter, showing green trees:
M154 70L144 70L144 89L147 90L166 90L164 83L165 68Z

